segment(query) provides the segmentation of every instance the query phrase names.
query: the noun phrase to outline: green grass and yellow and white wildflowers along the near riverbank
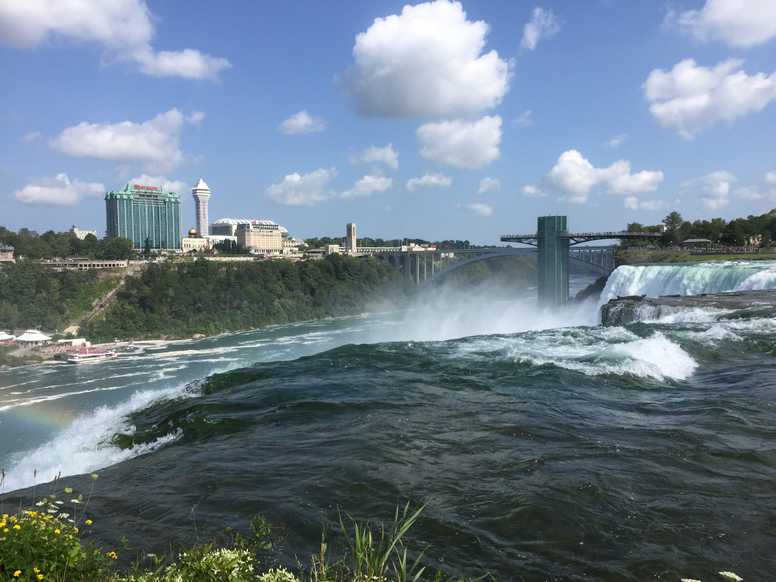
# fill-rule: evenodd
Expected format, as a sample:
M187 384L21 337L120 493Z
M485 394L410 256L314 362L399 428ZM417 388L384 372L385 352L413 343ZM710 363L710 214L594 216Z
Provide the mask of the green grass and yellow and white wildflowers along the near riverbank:
M428 548L419 553L408 549L407 534L425 508L411 511L409 502L397 506L386 525L340 514L338 535L345 553L332 555L324 525L320 553L311 556L309 567L298 564L296 572L262 564L273 546L273 530L260 516L251 520L247 535L225 528L223 535L192 548L136 556L130 569L120 570L120 556L132 551L126 537L117 537L109 548L89 539L87 511L97 478L92 475L86 498L64 487L64 497L58 499L59 477L40 499L36 485L29 508L20 502L12 514L0 492L0 582L466 582L465 577L449 578L421 566ZM487 574L473 580L485 577L495 581Z

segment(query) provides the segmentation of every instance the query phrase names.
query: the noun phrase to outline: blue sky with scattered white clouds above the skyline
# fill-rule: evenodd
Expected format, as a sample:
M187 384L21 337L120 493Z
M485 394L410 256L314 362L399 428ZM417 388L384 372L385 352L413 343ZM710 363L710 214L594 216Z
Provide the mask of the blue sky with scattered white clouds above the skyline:
M5 227L144 177L300 237L776 207L772 0L89 4L0 0Z

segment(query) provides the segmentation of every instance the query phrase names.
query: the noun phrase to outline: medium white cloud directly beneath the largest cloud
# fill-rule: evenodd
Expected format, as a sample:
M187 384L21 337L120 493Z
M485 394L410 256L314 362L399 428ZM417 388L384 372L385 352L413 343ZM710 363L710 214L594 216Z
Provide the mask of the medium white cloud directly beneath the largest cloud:
M454 168L487 166L501 155L501 117L484 116L479 121L462 120L424 123L415 130L421 156Z

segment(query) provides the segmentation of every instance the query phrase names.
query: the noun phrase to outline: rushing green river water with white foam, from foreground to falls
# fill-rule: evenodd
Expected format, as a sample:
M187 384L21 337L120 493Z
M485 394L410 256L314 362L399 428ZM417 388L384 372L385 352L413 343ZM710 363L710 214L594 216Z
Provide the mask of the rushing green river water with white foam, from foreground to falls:
M665 268L622 268L604 296L776 288L776 262ZM2 372L5 490L100 468L96 535L144 550L259 513L296 566L337 508L390 520L411 499L428 501L413 547L451 574L771 580L776 314L601 327L597 307L438 293Z

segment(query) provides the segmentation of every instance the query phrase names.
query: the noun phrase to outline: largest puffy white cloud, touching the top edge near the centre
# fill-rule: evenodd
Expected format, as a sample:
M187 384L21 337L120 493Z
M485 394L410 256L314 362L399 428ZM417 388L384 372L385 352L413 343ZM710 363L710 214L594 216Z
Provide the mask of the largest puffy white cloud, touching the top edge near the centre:
M355 37L345 93L364 116L450 118L501 103L510 64L483 53L490 27L460 2L405 5Z

